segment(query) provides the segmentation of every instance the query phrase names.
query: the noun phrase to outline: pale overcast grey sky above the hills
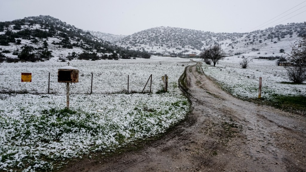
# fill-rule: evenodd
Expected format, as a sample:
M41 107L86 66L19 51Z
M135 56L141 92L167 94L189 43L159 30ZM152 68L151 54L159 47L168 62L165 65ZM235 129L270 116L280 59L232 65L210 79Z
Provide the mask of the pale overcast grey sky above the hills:
M250 32L304 22L305 11L305 0L1 0L0 21L50 15L80 29L116 35L159 26Z

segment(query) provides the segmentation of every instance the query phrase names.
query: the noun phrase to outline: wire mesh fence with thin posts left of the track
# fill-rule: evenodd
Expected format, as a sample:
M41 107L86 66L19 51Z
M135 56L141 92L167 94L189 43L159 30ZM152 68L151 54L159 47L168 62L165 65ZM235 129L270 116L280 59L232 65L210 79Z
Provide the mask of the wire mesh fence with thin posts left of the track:
M156 92L162 89L160 76L79 73L79 82L70 83L71 94ZM32 73L31 82L21 82L21 73L0 73L0 93L65 94L58 73Z

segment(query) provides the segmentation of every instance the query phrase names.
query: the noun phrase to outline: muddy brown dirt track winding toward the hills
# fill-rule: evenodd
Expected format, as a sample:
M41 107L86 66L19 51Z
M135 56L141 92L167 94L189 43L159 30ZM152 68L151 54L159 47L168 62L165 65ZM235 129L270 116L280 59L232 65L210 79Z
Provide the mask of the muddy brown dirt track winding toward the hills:
M112 157L68 163L62 171L306 171L306 119L238 100L186 68L192 112L159 140Z

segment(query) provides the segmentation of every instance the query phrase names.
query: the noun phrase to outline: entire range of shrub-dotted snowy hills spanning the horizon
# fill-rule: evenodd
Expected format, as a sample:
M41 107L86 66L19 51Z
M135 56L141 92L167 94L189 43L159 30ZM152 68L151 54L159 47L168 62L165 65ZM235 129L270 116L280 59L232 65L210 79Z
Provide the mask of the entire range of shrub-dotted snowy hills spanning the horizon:
M221 44L227 54L248 56L282 55L306 34L304 23L288 23L248 33L215 33L156 27L129 36L84 31L50 16L25 17L0 22L0 62L118 59L149 54L200 54ZM263 56L263 55L261 55Z

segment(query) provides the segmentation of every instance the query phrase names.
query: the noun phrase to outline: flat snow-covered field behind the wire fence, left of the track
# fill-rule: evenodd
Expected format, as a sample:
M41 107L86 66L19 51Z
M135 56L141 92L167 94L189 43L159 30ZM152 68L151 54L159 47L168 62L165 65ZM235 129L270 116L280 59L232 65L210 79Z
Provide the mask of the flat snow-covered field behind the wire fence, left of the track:
M60 67L67 65L67 62L56 62L54 59L56 57L50 60L52 63L0 63L0 91L27 89L28 92L47 93L48 73L50 72L50 92L65 93L65 84L57 82L57 72ZM98 60L94 62L95 66L92 66L92 61L73 60L70 65L79 69L79 82L71 89L71 93L90 93L91 73L93 73L93 93L126 92L128 75L129 92L141 92L151 74L152 92L156 92L162 88L161 76L167 74L169 83L176 82L177 77L172 76L177 76L177 71L184 69L182 65L190 62L188 59L155 56L154 61L146 59ZM21 73L32 73L32 82L20 82ZM147 86L144 91L148 92L149 87Z

